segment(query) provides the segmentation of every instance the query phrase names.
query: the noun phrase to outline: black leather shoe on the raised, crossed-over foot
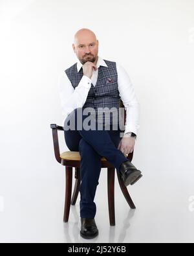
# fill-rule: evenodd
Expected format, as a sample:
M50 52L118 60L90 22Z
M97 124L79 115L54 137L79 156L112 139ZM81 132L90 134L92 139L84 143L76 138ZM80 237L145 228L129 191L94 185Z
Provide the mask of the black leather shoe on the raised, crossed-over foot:
M135 184L136 181L142 178L142 172L140 172L140 170L137 170L130 161L125 161L120 165L120 174L122 176L122 179L124 180L124 184L126 187L129 184Z

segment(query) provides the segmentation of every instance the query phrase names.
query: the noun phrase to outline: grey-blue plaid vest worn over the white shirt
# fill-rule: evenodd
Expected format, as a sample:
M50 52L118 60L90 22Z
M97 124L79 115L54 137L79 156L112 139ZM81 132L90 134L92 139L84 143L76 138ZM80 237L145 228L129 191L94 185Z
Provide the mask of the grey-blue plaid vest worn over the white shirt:
M109 123L118 123L119 121L119 107L120 107L120 95L118 91L118 75L116 71L116 62L104 60L107 67L100 66L98 68L98 79L96 86L91 84L87 100L83 105L84 108L92 108L96 115L96 121L105 124L107 117L109 117ZM77 70L77 65L74 64L69 69L65 70L74 89L80 83L83 76L83 69ZM111 110L111 108L113 108ZM105 113L105 114L103 114ZM116 116L116 120L113 119Z

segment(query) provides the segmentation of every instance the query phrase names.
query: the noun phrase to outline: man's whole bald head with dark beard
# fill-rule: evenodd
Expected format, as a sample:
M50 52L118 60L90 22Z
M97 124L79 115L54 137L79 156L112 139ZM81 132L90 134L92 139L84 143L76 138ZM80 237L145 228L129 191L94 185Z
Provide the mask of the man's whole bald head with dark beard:
M85 64L85 62L96 64L98 60L98 40L96 40L96 35L92 30L78 30L74 35L72 48L81 64Z

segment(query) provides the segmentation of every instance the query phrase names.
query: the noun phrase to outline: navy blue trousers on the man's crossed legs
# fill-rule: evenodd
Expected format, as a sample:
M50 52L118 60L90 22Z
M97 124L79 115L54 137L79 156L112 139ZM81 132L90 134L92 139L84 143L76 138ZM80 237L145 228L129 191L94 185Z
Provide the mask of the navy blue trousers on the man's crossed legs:
M77 125L76 109L70 113L65 120L64 127L69 123L75 122L75 130L65 130L65 143L70 151L79 151L81 156L80 164L80 217L94 218L96 215L96 204L94 196L96 187L99 184L101 170L101 157L105 157L111 165L119 171L121 163L128 159L124 154L117 149L120 143L120 129L113 130L113 125L110 130L84 130L83 126L79 130ZM80 112L79 112L80 113ZM83 115L81 119L85 120L89 115ZM82 122L83 124L83 122Z

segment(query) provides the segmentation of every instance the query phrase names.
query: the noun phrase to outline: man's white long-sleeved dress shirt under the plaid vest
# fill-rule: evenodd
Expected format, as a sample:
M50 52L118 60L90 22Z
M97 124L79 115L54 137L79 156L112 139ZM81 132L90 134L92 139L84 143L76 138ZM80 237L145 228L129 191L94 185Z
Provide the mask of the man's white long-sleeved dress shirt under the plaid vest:
M107 67L105 61L98 56L96 64L97 70L93 71L92 77L83 75L80 83L74 89L65 71L61 73L58 80L59 95L61 99L61 106L63 112L63 124L67 115L76 108L82 108L87 99L87 95L91 88L91 84L96 86L98 78L98 68L100 65ZM78 72L80 71L82 64L80 61L77 63ZM118 74L118 91L124 107L126 110L125 132L133 132L137 135L139 125L139 104L136 99L135 90L129 75L125 71L124 67L116 63L116 70Z

